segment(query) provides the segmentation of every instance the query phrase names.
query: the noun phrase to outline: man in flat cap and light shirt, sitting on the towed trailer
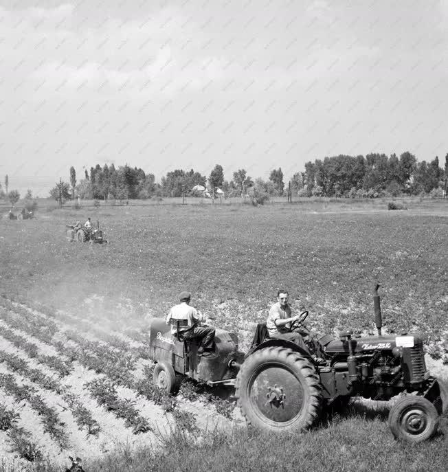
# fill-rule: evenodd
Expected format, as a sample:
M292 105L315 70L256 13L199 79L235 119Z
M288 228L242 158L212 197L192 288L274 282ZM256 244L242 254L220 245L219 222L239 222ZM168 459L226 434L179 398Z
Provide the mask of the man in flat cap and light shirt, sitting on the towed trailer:
M176 335L179 330L184 339L201 339L198 354L208 356L214 352L215 330L211 326L200 326L203 316L198 313L196 308L190 306L190 300L190 292L180 293L180 303L170 309L170 313L166 316L166 324L171 325L172 335Z

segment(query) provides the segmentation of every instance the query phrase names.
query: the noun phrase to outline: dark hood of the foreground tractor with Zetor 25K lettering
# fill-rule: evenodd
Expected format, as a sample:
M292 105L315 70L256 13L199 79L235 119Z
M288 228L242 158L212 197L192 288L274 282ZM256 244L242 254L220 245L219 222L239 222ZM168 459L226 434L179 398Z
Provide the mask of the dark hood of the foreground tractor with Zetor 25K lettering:
M422 341L416 336L366 336L352 338L352 346L355 352L370 350L392 350L396 346L413 348L420 346ZM325 348L326 352L348 352L348 341L346 339L335 339L330 341Z

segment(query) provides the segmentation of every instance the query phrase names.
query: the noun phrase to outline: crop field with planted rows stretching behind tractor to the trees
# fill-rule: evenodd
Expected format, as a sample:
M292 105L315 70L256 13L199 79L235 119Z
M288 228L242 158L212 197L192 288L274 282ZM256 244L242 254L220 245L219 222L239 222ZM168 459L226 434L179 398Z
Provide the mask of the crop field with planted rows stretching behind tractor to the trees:
M188 425L197 428L195 435L208 436L242 424L231 402L195 392L190 383L175 403L148 387L146 324L165 315L183 289L216 326L237 333L247 350L279 287L289 289L297 310L310 311L308 325L319 333L373 332L378 282L385 331L421 333L429 365L448 379L443 201L407 211L388 211L377 202L324 202L64 208L36 216L0 221L5 460L105 460L122 445L156 450L161 438ZM100 221L108 245L67 241L65 225L87 216ZM340 447L344 431L355 429L390 435L379 420L339 418L307 437L320 447L333 434ZM416 464L431 451L438 470L447 460L446 446L445 456L438 447L446 445L445 420L441 429L434 441L403 451ZM388 452L400 454L401 446L392 436L388 440ZM258 443L251 444L256 449Z

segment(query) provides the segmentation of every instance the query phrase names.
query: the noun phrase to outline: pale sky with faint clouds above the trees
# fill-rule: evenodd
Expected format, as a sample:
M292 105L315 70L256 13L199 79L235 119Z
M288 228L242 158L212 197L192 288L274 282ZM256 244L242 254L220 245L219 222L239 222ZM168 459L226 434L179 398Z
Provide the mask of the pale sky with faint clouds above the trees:
M10 189L111 162L288 179L326 155L448 152L447 0L0 3Z

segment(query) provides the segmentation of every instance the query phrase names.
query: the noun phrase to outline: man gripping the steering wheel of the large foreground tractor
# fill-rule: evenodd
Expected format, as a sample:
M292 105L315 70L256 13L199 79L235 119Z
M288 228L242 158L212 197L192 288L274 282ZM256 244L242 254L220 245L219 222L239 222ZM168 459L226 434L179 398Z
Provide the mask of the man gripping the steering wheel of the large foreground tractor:
M269 337L287 339L297 344L307 352L311 353L311 356L315 361L322 361L320 355L320 346L317 346L317 341L313 340L313 333L310 333L306 328L295 326L291 330L291 324L300 319L301 315L292 316L291 305L288 304L289 293L287 290L279 290L277 293L277 303L271 306L269 310L269 316L267 317L267 330ZM304 338L308 342L305 343Z

